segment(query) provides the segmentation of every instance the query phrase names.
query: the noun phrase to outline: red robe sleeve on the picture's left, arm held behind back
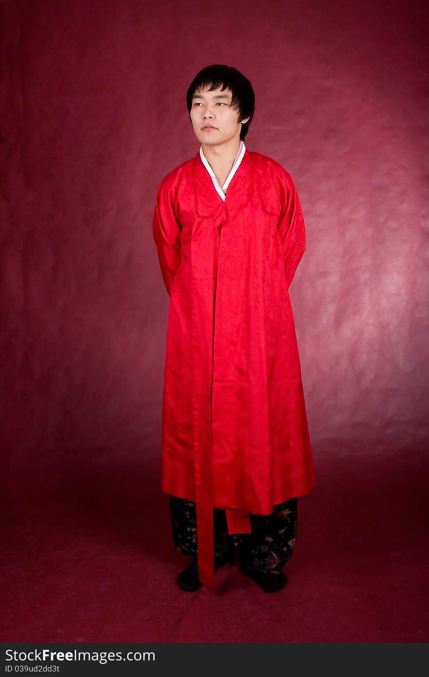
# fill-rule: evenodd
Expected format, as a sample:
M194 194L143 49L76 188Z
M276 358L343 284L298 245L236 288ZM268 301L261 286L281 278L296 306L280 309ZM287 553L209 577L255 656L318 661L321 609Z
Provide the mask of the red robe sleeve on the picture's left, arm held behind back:
M180 234L182 227L173 209L171 191L164 181L157 192L157 202L152 219L152 234L157 245L159 265L167 293L171 295L171 284L181 261Z

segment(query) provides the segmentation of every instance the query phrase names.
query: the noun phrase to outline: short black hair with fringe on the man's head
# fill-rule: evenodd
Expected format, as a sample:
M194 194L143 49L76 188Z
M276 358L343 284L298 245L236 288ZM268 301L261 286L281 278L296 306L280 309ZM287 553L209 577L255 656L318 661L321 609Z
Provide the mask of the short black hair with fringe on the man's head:
M232 66L222 66L222 64L205 66L192 80L186 93L189 119L190 109L192 108L192 96L198 89L205 89L206 87L208 87L209 91L218 89L218 87L222 91L230 89L232 92L231 106L239 110L238 122L241 123L245 118L249 118L247 123L241 125L240 140L244 139L255 112L255 93L250 81L243 73L237 70L237 68L232 68Z

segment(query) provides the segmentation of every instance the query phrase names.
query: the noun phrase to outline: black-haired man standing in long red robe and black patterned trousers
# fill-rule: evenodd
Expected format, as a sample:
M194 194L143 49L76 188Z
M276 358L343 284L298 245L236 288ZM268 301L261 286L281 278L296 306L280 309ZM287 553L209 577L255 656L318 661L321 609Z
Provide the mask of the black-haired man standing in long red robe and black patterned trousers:
M287 171L245 147L247 78L207 66L186 100L201 147L161 182L152 224L170 297L162 490L173 541L194 558L178 585L213 588L237 549L241 571L277 592L297 497L314 485L288 292L304 219Z

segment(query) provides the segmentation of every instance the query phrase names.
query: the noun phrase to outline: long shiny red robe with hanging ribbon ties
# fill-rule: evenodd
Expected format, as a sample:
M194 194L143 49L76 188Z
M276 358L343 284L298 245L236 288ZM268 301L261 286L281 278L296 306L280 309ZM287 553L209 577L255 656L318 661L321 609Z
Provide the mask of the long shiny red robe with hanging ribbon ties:
M314 468L289 284L306 246L291 176L247 148L222 200L199 152L157 193L153 237L170 297L162 491L197 505L200 580L213 587L213 507L307 494Z

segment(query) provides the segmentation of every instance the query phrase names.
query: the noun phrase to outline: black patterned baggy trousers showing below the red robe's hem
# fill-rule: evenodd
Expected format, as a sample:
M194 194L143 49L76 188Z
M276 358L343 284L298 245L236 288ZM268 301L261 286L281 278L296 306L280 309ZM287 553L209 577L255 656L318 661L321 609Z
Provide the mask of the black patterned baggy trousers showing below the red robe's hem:
M195 503L169 496L173 542L183 554L198 556L197 508ZM215 563L228 559L236 548L240 565L253 571L280 571L291 559L296 539L298 500L291 498L274 506L270 515L249 513L251 533L228 533L225 510L214 508Z

